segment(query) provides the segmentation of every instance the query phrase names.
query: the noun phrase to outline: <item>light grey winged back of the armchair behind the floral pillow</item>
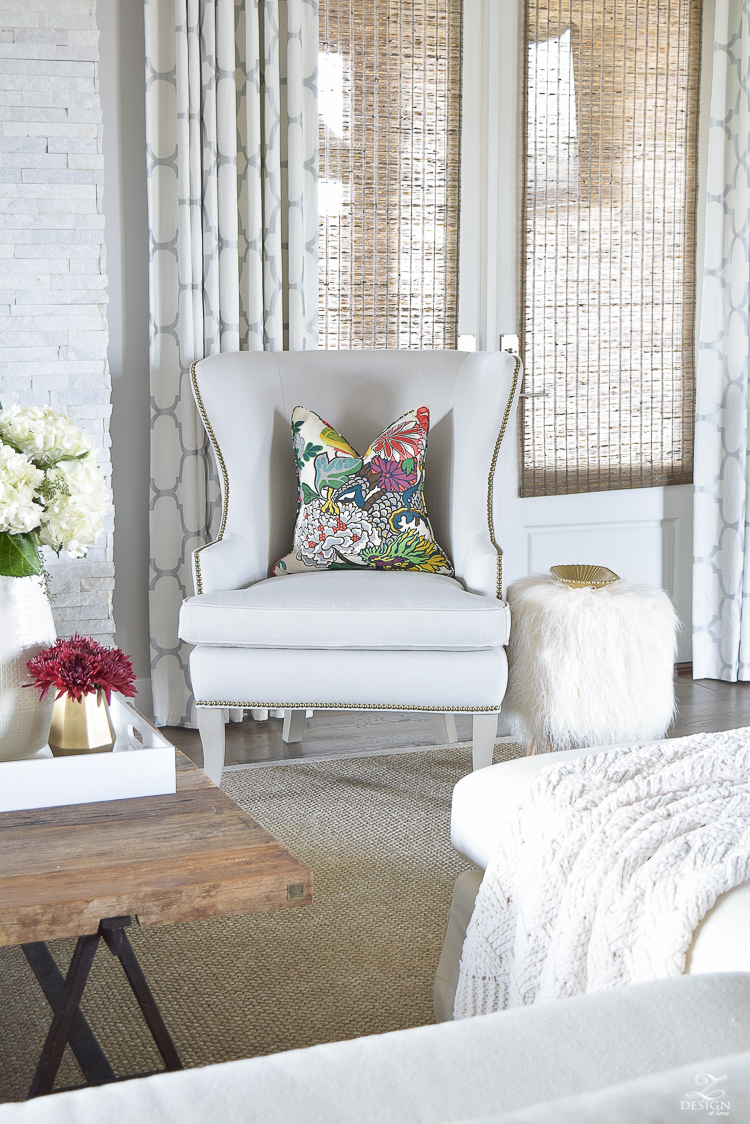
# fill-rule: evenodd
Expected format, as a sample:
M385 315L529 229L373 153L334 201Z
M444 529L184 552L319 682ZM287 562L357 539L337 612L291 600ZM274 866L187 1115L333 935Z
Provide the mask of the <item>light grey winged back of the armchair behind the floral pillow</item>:
M519 384L505 352L225 352L193 369L196 401L219 466L219 537L247 540L253 580L289 550L297 471L289 436L295 406L307 406L368 448L391 422L430 410L425 501L435 540L461 577L463 555L489 542L488 483L498 435ZM499 492L507 435L498 453Z

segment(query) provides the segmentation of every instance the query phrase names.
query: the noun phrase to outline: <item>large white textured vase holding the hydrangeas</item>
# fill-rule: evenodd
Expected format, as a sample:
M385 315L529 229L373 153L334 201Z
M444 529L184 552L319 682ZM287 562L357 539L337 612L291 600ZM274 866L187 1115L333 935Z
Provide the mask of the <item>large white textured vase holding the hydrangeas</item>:
M47 744L54 692L39 701L26 661L55 643L52 609L40 578L0 574L0 761L30 758Z

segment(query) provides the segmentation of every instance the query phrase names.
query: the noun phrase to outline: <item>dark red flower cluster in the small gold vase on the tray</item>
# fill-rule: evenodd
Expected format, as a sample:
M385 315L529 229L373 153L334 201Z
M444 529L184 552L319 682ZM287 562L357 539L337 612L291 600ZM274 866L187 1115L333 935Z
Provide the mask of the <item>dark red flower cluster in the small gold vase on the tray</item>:
M128 656L119 647L103 647L90 636L78 633L72 640L58 640L39 652L26 667L34 686L42 691L40 698L51 687L67 691L76 703L99 689L108 703L111 703L112 691L129 698L136 694L135 672Z

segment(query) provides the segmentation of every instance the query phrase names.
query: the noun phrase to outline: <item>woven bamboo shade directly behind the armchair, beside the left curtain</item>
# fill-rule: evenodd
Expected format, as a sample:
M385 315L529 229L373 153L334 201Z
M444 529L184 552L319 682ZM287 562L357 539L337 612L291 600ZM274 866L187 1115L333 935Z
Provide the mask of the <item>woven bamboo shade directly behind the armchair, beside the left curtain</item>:
M461 0L320 0L320 347L455 347Z

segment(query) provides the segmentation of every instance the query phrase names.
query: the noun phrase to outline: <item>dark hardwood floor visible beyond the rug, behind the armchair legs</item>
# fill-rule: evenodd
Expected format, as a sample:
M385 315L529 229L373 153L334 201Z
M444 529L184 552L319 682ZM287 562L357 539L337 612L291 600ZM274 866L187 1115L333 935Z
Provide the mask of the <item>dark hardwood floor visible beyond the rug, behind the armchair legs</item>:
M750 683L693 680L689 676L678 674L675 688L678 711L669 731L670 737L750 725ZM470 741L471 717L458 715L457 729L461 741ZM202 764L197 729L165 726L163 733L196 764ZM498 735L508 733L507 724L500 715ZM434 744L428 715L318 710L313 718L308 718L305 741L297 745L287 745L281 741L281 718L255 722L246 716L242 723L227 724L226 763L290 761L335 753L365 755L404 746Z

